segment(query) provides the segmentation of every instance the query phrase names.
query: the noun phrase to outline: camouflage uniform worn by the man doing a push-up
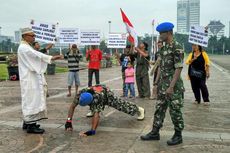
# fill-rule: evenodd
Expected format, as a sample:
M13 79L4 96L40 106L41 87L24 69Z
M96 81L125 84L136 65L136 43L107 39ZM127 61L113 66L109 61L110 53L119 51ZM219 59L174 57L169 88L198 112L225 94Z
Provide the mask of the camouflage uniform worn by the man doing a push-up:
M94 87L102 87L102 90L96 91ZM93 102L89 105L90 110L93 113L103 111L106 105L132 116L139 112L138 106L136 104L117 98L114 93L106 86L97 85L94 87L82 89L79 92L79 95L75 98L74 103L78 105L80 94L83 92L89 92L93 95Z

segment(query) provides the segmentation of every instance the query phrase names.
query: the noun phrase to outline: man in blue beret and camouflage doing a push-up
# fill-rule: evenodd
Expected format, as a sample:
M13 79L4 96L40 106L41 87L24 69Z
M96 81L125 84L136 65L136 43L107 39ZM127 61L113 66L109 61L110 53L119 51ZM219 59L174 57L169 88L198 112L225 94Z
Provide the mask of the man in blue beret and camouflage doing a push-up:
M68 118L65 123L66 131L73 130L72 119L77 105L89 105L90 110L93 112L91 129L86 132L80 132L80 136L92 136L96 134L96 129L100 119L100 112L104 110L106 105L131 116L136 115L137 120L143 120L145 117L144 108L123 99L119 99L108 87L104 85L96 85L82 89L77 97L75 97L68 111Z

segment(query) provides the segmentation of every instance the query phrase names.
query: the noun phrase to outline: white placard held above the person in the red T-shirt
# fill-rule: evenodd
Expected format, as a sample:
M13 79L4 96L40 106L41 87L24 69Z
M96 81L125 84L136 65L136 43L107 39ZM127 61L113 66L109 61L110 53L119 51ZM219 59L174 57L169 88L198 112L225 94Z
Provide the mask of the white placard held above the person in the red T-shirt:
M100 45L100 30L80 30L81 45Z

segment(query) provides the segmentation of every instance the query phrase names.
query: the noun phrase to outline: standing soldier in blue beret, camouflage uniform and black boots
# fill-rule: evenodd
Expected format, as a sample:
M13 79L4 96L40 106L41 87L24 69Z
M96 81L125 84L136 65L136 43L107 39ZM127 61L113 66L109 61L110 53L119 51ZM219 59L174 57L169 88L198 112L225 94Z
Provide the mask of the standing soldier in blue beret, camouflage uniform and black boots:
M163 125L165 113L169 107L175 133L167 141L168 145L182 143L182 130L184 129L181 111L184 86L180 76L183 68L184 51L182 46L173 39L173 28L172 23L164 22L156 29L160 33L161 40L165 43L159 51L161 62L154 83L154 85L158 86L157 98L159 101L156 104L152 130L148 134L141 136L142 140L160 140L159 129Z

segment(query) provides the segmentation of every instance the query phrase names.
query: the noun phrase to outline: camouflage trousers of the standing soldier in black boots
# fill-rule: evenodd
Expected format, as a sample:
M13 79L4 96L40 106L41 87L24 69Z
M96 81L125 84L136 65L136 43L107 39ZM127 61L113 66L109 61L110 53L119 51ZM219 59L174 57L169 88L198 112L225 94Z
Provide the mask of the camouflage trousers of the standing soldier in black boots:
M153 127L160 129L163 126L165 113L169 107L169 114L171 116L174 129L177 131L182 131L184 129L184 120L181 111L183 107L182 93L174 95L173 97L173 99L165 97L157 101Z

